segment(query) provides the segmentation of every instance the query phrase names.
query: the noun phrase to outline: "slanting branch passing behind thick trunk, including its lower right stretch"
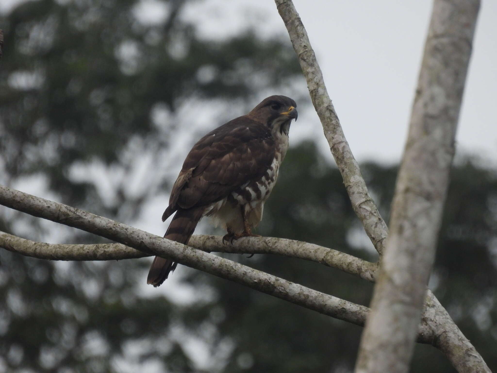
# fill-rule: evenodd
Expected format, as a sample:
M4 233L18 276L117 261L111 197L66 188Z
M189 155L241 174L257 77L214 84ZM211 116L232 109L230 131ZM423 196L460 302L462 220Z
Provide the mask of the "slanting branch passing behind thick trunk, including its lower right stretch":
M359 167L345 140L307 32L291 0L275 0L275 3L306 77L311 99L323 124L331 153L342 173L354 211L381 255L388 229L369 195ZM469 29L472 30L473 27L473 24L469 25ZM436 336L433 345L444 352L458 372L490 372L480 354L461 333L431 291L427 293L425 308L422 320L428 321Z

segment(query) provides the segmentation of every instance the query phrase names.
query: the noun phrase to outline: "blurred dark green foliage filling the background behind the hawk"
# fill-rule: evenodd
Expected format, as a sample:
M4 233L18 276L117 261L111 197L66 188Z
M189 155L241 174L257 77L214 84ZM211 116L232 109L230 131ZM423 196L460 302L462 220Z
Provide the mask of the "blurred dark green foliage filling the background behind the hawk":
M158 105L177 113L195 97L239 106L260 91L302 79L293 51L278 38L199 36L181 17L193 2L165 1L166 17L154 25L136 19L135 0L39 0L0 18L1 183L45 178L58 200L125 221L166 187L160 167L150 178L159 181L152 190L147 184L130 193L129 181L119 176L145 152L163 156L174 145L174 121L154 122ZM72 176L75 165L95 160L116 175L110 197L98 192L97 181ZM388 219L397 168L369 163L362 172ZM493 370L496 184L495 174L474 162L454 167L431 281ZM26 238L47 233L38 220L2 209L1 230L21 235L26 227ZM361 231L330 157L308 142L291 148L257 232L375 260L367 239L357 238ZM83 233L72 239L95 241ZM369 303L372 284L316 263L227 256ZM204 273L176 271L182 286L196 289L191 302L176 304L143 294L147 260L53 263L1 250L0 261L0 372L353 370L361 328ZM437 350L418 345L412 372L454 370Z

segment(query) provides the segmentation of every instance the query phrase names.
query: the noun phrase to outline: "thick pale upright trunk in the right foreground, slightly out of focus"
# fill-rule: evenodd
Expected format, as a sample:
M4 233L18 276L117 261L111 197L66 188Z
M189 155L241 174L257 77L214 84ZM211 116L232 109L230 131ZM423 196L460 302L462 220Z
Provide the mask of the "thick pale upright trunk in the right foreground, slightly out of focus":
M433 4L392 203L390 235L359 348L358 373L409 371L435 257L479 7L479 0Z

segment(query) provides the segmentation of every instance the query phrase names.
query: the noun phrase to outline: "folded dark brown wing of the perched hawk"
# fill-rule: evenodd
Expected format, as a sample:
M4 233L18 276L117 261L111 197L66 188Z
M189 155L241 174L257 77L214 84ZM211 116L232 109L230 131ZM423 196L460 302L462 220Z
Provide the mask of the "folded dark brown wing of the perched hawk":
M178 208L216 202L261 178L273 159L274 140L265 125L241 116L216 128L190 150L163 219Z

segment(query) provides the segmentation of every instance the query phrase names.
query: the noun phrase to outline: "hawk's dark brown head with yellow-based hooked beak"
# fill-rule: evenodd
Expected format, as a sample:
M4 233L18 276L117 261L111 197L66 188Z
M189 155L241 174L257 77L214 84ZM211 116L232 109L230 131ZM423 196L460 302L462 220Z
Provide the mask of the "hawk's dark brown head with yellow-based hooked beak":
M272 133L288 135L290 122L297 120L296 107L297 103L290 97L274 95L264 98L247 116L268 126Z

